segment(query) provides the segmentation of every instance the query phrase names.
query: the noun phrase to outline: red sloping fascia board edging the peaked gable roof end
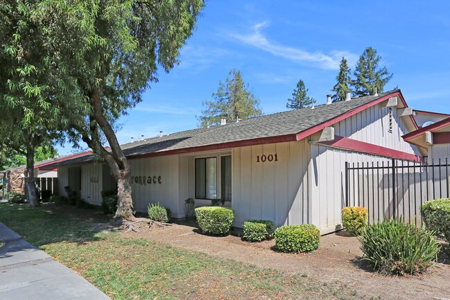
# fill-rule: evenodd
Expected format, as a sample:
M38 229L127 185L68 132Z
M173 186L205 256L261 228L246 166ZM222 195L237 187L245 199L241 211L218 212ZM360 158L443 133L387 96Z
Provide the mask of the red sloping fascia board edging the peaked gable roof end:
M358 114L358 112L362 112L363 110L372 107L374 105L377 105L385 100L388 100L389 98L393 97L393 96L399 96L401 102L403 103L403 105L405 107L408 107L408 105L406 104L405 99L403 98L403 95L401 95L401 93L399 91L395 91L392 94L388 94L386 96L383 96L381 98L378 98L377 100L373 100L370 103L367 103L365 105L361 105L359 107L356 107L352 110L349 110L348 112L345 112L344 114L341 114L340 116L336 116L336 118L331 118L328 121L325 121L324 123L320 123L319 125L315 125L314 127L311 127L307 130L304 130L302 132L297 133L297 141L300 141L301 139L306 138L307 136L310 136L311 134L315 134L315 132L318 132L320 130L323 130L325 127L329 127L331 125L334 125L340 121L343 121L345 118L349 118L350 116L354 116L355 114ZM352 101L352 100L350 100ZM413 116L410 116L411 121L413 121L413 124L415 126L415 128L417 129L417 123L415 122Z

